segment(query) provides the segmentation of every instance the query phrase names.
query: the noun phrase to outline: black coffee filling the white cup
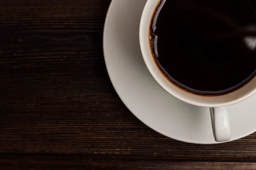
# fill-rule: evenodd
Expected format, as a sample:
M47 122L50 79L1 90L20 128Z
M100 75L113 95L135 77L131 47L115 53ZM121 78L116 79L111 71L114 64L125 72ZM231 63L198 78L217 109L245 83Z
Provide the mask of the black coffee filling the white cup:
M248 0L161 0L149 41L162 73L199 95L241 88L256 74L253 6Z

